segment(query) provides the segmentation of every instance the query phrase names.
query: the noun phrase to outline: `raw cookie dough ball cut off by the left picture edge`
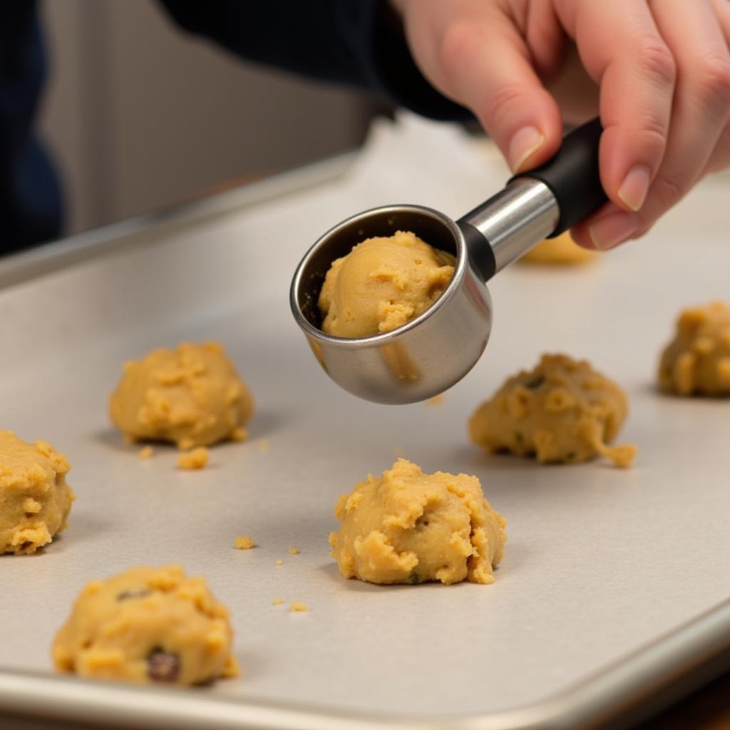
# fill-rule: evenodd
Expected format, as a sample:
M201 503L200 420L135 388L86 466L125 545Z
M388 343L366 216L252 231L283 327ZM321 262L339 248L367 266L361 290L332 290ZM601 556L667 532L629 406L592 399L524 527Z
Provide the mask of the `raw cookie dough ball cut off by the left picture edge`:
M76 499L69 461L45 441L26 444L0 431L0 554L29 555L66 529Z

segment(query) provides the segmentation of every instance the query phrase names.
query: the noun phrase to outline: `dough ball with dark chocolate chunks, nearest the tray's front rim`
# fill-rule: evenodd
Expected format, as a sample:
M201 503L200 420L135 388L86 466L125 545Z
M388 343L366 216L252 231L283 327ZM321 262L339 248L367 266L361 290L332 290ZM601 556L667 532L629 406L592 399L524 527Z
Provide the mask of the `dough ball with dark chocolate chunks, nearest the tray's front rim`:
M180 566L88 583L53 642L60 672L180 685L239 673L228 610Z

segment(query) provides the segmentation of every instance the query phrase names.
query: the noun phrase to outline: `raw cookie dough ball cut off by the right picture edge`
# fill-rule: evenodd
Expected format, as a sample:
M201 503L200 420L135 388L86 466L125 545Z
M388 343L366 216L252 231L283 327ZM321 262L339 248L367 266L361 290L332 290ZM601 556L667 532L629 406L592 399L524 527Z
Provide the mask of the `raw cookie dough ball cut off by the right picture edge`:
M659 386L680 396L730 396L730 307L713 301L680 314L661 355Z

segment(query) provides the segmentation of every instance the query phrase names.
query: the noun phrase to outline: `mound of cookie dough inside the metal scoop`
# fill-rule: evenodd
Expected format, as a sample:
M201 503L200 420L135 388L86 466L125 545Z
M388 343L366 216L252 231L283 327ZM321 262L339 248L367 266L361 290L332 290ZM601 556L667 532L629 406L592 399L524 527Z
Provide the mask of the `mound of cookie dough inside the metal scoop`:
M327 272L319 298L322 330L370 337L404 325L444 293L453 263L453 256L406 231L358 243Z

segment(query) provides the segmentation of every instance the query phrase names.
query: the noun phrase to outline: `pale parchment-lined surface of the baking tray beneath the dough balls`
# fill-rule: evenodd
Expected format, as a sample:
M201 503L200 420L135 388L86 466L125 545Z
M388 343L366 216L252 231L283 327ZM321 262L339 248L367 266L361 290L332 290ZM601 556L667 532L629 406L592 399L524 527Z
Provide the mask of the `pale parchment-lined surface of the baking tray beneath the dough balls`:
M48 672L53 634L87 580L174 562L207 575L231 608L245 672L195 702L245 703L242 726L258 702L318 708L320 719L466 722L555 698L726 603L730 402L653 387L677 311L728 298L726 180L703 183L647 239L595 265L500 274L488 350L437 407L339 391L293 323L291 274L323 230L391 202L458 216L506 177L491 148L405 118L378 126L333 183L150 228L146 242L0 291L0 426L67 453L78 496L50 548L0 558L12 595L0 603L0 666ZM121 363L203 339L226 345L255 394L250 441L216 447L203 472L177 471L172 449L140 461L106 415ZM469 445L473 408L544 351L589 358L626 388L621 439L639 445L633 469L537 466ZM509 520L496 583L383 588L339 577L326 542L337 496L396 451L429 471L480 477ZM239 534L260 547L234 550ZM312 611L292 615L274 596ZM303 726L303 716L277 723Z

